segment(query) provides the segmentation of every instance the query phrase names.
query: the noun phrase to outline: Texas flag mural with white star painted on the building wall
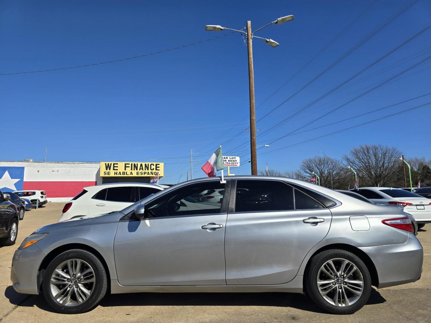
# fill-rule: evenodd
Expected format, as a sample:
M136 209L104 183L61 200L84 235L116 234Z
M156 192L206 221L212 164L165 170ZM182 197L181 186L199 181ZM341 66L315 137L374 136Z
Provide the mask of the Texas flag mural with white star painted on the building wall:
M71 172L70 168L0 166L0 190L44 190L48 200L72 198L86 186L96 185L96 172L92 168L81 168Z

